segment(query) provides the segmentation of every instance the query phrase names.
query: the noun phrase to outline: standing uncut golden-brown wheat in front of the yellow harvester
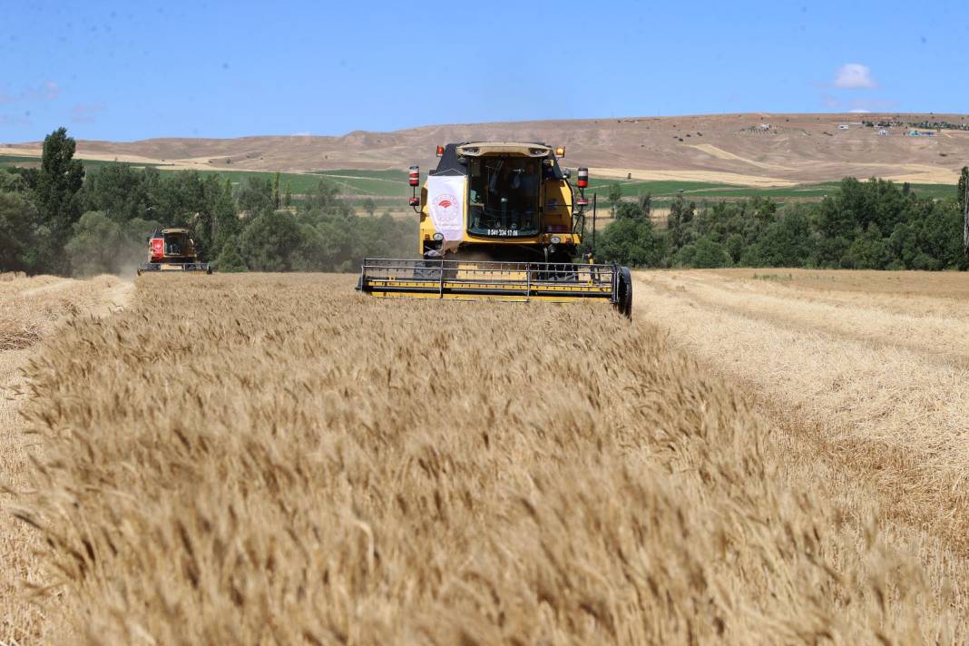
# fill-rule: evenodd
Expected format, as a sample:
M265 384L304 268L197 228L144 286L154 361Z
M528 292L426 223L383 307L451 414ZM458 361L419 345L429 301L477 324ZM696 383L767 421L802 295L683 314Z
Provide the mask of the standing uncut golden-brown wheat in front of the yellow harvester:
M33 363L19 515L80 641L965 640L959 592L783 484L656 328L351 287L144 277Z

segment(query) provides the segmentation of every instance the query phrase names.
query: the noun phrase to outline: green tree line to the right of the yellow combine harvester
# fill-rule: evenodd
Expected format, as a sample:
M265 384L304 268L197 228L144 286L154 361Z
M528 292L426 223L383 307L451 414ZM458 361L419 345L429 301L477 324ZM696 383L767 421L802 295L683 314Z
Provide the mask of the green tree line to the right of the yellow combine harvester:
M639 267L964 270L967 181L969 169L962 169L947 200L919 197L907 184L854 177L818 203L758 197L698 206L678 195L665 230L650 218L647 195L615 203L615 219L599 235L596 256Z

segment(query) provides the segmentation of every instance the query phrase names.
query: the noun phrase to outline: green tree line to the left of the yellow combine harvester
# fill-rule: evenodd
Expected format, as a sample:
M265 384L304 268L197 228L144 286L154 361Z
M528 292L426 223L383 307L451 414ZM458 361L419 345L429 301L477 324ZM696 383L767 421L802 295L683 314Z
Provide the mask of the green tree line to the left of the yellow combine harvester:
M106 164L85 172L60 128L41 166L0 169L0 271L78 274L133 271L156 229L193 231L219 271L354 271L364 256L406 257L414 220L360 217L325 180L297 205L279 174L238 186L215 173Z

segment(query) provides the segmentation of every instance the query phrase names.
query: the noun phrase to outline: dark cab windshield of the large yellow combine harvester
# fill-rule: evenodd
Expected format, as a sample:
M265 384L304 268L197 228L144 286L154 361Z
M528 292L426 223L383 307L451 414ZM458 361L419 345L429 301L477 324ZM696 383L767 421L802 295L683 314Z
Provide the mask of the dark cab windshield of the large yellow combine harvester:
M520 237L539 232L542 160L484 157L468 165L468 231Z

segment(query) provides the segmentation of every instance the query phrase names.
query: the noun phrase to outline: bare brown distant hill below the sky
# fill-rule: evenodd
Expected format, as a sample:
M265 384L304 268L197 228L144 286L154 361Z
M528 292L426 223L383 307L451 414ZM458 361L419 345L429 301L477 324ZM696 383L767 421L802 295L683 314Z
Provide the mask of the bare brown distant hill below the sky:
M900 122L885 128L862 125ZM599 176L788 186L880 176L950 184L969 164L969 130L920 128L964 114L717 114L425 126L342 137L266 136L233 139L156 138L78 141L78 156L172 169L281 170L432 168L438 143L471 139L546 141L566 147L566 165ZM0 155L40 154L40 143L0 144Z

